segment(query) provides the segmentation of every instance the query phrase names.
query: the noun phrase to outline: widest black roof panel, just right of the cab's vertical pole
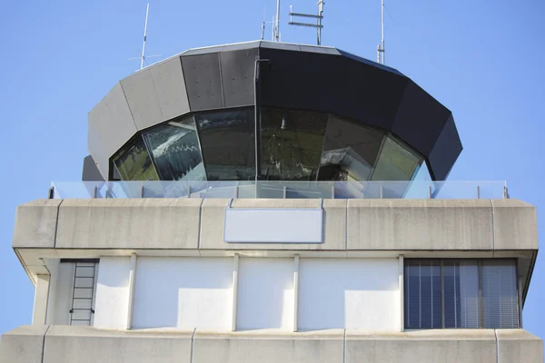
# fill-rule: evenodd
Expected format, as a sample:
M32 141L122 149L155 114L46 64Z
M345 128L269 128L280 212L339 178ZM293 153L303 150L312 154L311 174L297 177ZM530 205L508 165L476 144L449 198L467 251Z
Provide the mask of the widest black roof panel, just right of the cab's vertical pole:
M390 130L408 78L340 55L262 48L262 104L335 113Z

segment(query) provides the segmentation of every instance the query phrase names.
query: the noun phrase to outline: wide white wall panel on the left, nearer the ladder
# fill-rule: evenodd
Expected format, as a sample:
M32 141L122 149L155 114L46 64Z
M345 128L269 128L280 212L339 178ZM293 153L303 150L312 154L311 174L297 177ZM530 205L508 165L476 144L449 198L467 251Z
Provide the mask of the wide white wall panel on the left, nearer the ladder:
M139 257L135 328L230 330L233 259Z

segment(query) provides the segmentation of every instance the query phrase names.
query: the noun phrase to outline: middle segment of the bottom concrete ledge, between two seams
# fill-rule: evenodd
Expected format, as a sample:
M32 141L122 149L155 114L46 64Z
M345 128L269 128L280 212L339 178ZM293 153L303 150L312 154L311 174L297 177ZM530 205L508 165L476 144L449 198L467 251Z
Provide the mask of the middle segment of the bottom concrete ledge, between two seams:
M193 363L342 363L342 329L322 334L195 332Z

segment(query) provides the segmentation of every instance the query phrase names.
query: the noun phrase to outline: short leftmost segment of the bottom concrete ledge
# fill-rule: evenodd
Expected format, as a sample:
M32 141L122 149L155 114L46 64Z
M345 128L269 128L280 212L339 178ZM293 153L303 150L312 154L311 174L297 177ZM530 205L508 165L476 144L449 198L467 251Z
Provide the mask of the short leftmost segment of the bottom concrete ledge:
M49 326L23 325L0 338L0 363L43 363L44 335Z

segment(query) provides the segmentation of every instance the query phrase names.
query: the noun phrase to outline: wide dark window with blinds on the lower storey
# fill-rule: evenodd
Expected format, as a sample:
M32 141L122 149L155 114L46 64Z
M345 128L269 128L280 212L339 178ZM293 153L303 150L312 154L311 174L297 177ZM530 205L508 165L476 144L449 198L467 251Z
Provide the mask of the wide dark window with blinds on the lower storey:
M519 327L515 260L405 260L406 329Z

